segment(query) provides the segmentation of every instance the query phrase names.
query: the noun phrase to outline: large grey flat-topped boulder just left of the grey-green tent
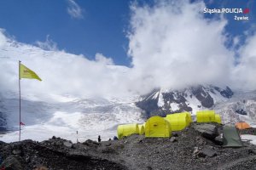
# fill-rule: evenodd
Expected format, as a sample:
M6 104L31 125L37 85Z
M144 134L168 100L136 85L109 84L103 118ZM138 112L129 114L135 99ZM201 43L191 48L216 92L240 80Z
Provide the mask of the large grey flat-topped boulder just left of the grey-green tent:
M218 127L213 124L196 124L194 126L195 130L199 133L201 133L201 136L206 139L215 139L219 133L218 133Z

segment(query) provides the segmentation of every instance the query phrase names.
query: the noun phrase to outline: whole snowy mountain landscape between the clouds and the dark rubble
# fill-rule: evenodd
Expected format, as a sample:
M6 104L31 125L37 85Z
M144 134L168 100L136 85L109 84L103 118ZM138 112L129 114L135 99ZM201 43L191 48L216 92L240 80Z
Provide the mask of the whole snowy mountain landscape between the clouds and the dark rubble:
M30 99L29 99L30 98ZM84 141L113 138L122 123L144 122L148 116L200 110L215 110L223 122L256 122L256 91L233 92L230 88L197 86L183 90L154 90L141 98L72 98L56 96L55 101L21 100L21 139L44 140L52 136ZM19 100L12 95L0 99L0 140L18 139ZM3 134L3 131L6 133ZM78 134L76 132L79 132Z

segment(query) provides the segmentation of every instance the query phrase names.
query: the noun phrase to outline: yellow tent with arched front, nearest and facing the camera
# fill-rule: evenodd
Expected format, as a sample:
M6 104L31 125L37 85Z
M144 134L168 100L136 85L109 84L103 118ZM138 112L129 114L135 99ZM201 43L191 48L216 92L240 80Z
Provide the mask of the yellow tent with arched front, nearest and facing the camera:
M152 116L148 119L145 126L146 138L168 138L172 136L172 129L169 122L163 117Z

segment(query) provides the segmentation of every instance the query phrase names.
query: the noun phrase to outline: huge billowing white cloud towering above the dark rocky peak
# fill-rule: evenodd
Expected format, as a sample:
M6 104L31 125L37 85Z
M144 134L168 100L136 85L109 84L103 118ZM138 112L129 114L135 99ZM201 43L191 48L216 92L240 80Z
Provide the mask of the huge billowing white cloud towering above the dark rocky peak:
M234 54L224 46L227 21L205 19L204 7L189 1L132 6L129 54L134 88L230 82Z

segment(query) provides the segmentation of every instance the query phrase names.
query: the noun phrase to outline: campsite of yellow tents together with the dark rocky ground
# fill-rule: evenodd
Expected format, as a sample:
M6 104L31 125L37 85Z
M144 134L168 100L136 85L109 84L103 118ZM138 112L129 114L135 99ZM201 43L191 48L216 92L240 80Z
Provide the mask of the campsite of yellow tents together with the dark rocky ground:
M193 122L186 113L180 114L185 123L181 121L182 127L177 123L176 128L160 116L153 116L139 126L136 123L120 125L119 139L102 142L88 139L73 144L55 136L39 143L32 140L2 142L2 166L19 170L40 166L113 170L255 169L256 147L240 136L253 135L256 128L243 126L240 129L239 124L226 126L219 123L214 111L204 112L198 114L204 117L198 119L199 122ZM218 122L210 121L209 116L218 117Z

